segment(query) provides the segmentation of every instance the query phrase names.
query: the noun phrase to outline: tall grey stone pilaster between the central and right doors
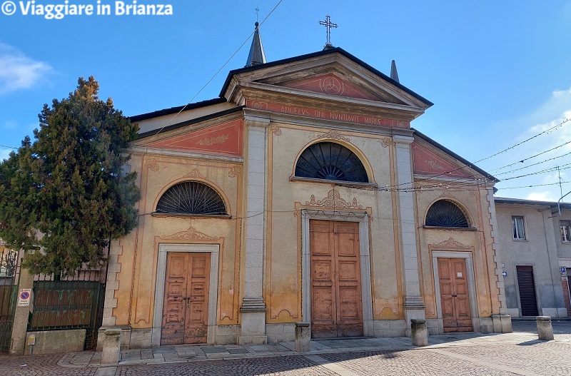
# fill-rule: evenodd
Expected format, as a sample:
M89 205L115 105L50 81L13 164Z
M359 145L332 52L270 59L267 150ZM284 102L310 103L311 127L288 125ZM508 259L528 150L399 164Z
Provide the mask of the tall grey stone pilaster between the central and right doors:
M395 141L396 178L399 188L413 187L413 161L411 158L410 136L393 136ZM400 218L400 249L405 265L405 321L406 335L411 336L410 320L425 319L425 305L420 297L418 255L416 243L415 206L412 192L398 192L398 215Z

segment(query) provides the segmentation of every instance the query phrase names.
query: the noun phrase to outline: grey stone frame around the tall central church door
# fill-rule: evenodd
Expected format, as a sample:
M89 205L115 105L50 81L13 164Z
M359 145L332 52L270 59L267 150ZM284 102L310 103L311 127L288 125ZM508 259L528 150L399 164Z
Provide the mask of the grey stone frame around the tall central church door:
M359 223L359 255L361 268L361 296L363 300L363 335L373 337L373 302L371 298L369 216L367 213L340 213L337 211L301 210L301 317L311 322L311 278L309 221L331 220Z

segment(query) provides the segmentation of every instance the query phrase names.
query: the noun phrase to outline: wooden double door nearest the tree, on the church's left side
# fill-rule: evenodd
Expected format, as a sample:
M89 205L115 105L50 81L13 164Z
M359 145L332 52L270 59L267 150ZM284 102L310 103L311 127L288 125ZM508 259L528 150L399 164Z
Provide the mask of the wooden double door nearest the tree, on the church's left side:
M166 257L161 345L206 343L210 253Z

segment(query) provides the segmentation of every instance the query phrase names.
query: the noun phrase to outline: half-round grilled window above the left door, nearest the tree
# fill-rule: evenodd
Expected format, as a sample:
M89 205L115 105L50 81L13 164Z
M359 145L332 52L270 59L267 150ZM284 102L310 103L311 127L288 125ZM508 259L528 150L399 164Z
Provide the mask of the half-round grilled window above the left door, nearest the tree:
M221 195L206 184L196 181L185 181L168 188L158 200L156 213L228 214Z

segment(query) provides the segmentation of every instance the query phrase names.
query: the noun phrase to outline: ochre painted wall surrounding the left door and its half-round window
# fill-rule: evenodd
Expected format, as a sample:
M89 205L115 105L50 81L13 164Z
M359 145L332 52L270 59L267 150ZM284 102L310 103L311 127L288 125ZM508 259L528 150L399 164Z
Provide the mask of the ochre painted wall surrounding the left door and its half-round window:
M241 253L242 163L182 158L168 154L133 153L131 170L141 187L138 228L121 238L121 271L113 309L116 325L151 327L160 243L214 243L220 245L218 324L238 323L239 280L236 263ZM161 195L182 181L198 181L218 191L231 218L152 214ZM186 232L186 233L185 233ZM183 234L181 234L183 233ZM134 272L133 272L134 270Z

